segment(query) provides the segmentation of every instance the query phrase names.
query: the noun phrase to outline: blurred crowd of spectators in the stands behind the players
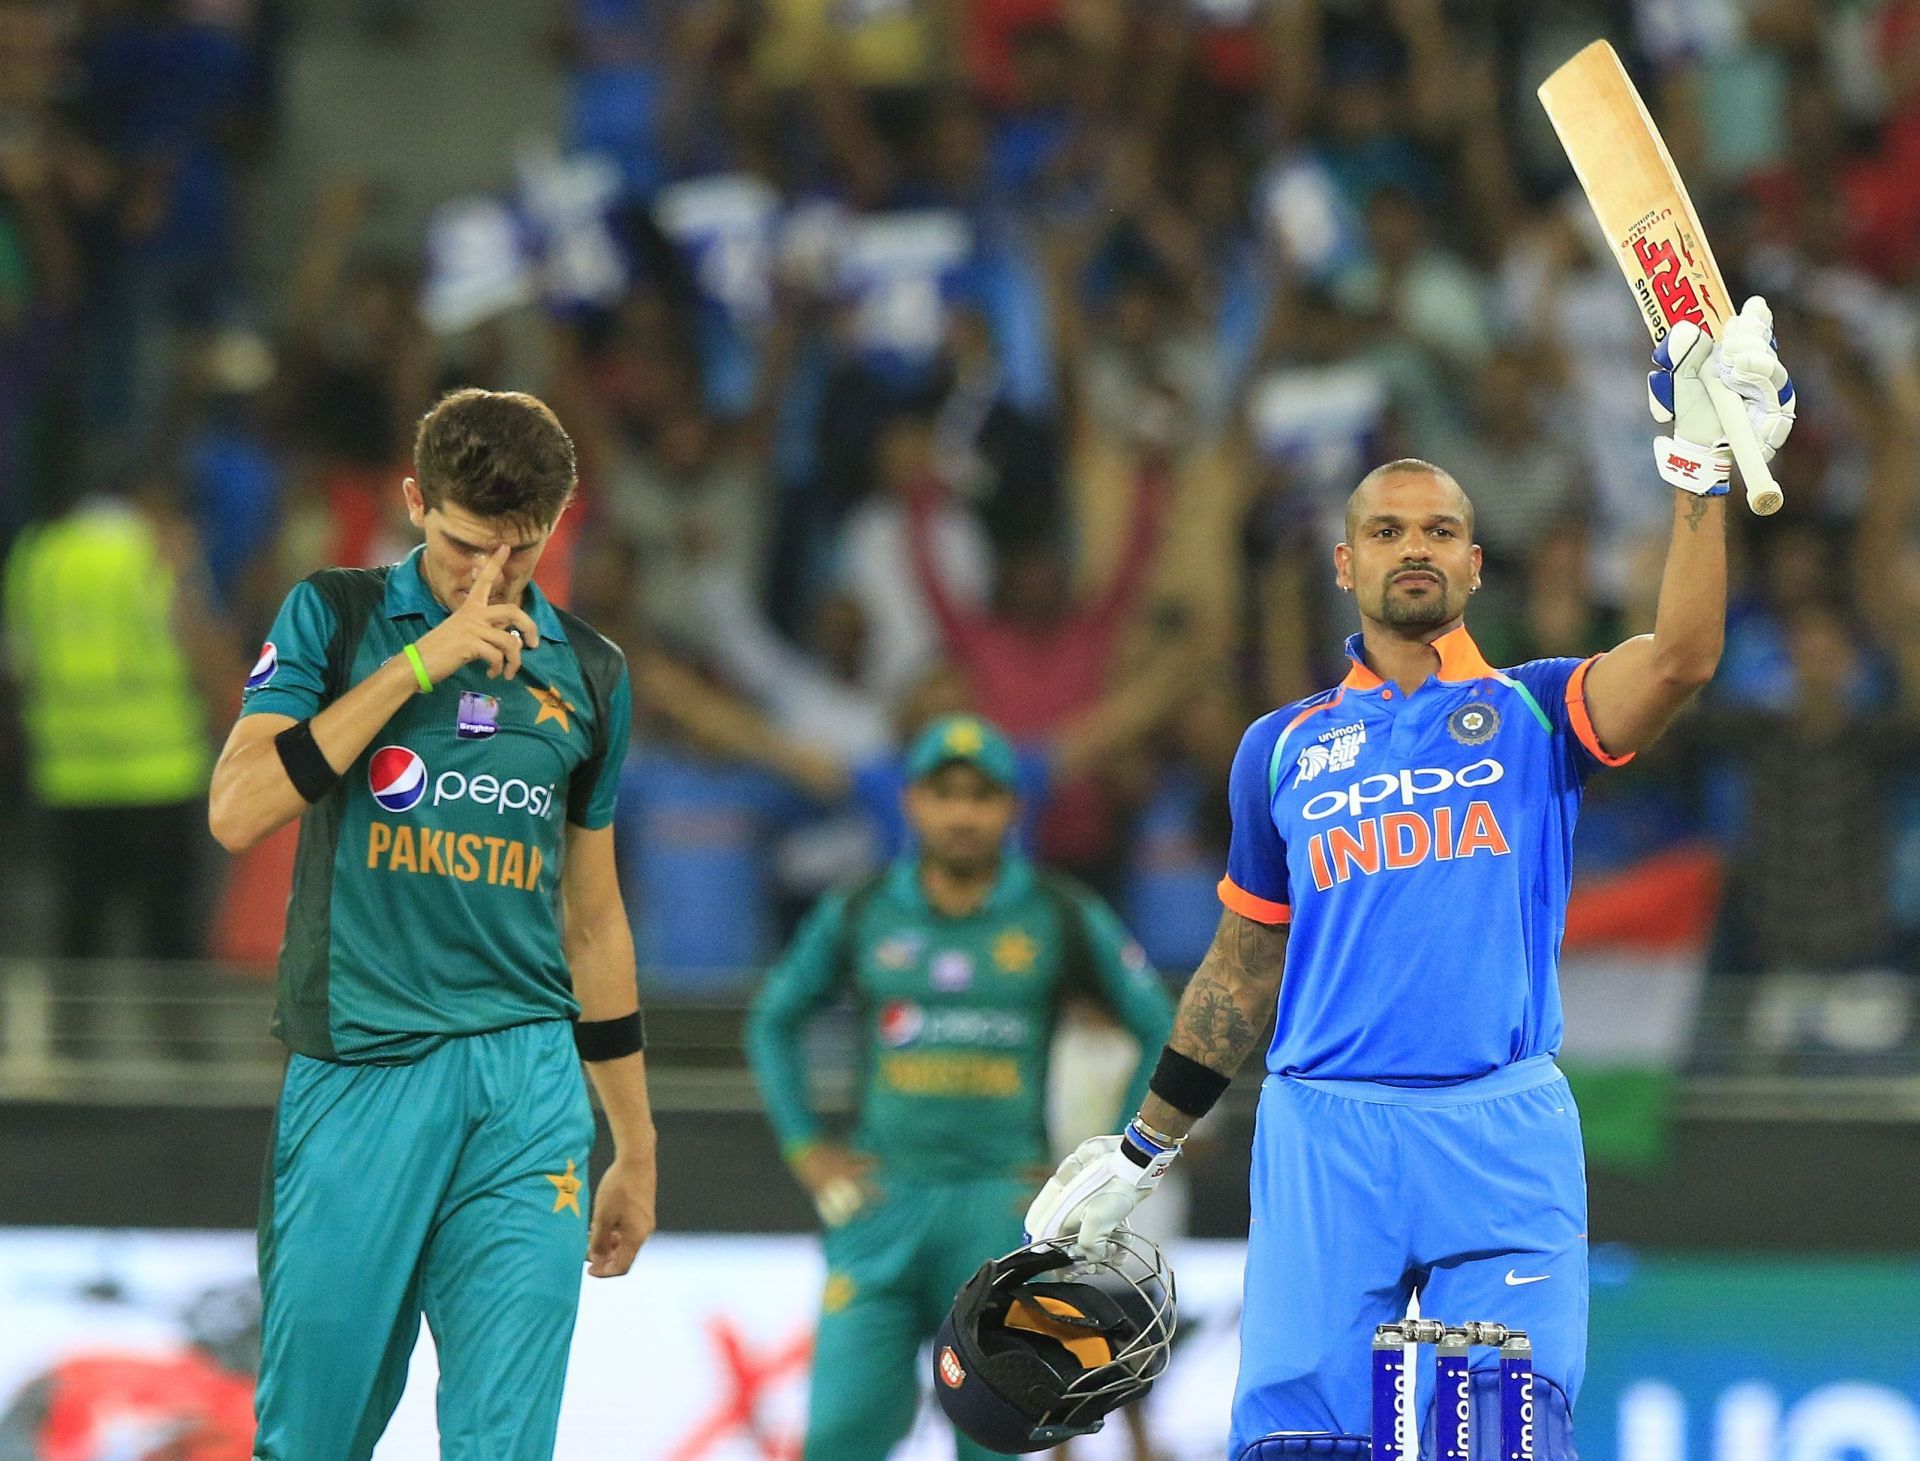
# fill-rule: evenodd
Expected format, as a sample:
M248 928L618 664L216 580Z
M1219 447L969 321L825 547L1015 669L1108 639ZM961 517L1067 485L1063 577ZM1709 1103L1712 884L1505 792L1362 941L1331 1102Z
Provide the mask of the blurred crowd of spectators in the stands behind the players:
M897 850L897 749L958 707L1021 743L1027 843L1192 968L1240 730L1344 672L1371 465L1473 495L1496 664L1649 624L1647 338L1532 96L1609 36L1799 426L1720 678L1596 779L1582 875L1707 839L1722 968L1914 962L1920 2L570 0L497 194L394 248L336 157L259 257L282 21L0 0L4 764L69 877L200 856L280 597L407 549L411 424L484 384L578 443L543 578L634 666L649 977L737 979Z

